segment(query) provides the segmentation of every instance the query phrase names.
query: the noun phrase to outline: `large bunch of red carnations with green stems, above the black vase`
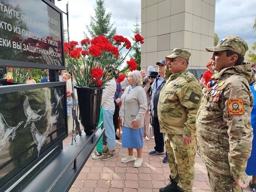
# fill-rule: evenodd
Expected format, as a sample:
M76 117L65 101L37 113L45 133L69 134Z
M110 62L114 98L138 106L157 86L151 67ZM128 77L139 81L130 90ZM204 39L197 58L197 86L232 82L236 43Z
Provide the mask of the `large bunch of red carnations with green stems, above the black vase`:
M113 44L102 35L91 40L83 39L81 47L77 47L78 42L76 41L71 41L70 44L65 43L66 60L75 78L76 86L100 87L114 77L117 77L118 82L122 82L125 78L124 72L128 69L131 71L137 69L137 63L133 59L126 61L126 66L122 66L133 46L137 43L144 43L143 37L139 34L134 38L133 45L129 39L121 35L113 37ZM123 49L128 51L124 57L119 57ZM109 76L105 73L109 68L118 71L117 73L113 71Z

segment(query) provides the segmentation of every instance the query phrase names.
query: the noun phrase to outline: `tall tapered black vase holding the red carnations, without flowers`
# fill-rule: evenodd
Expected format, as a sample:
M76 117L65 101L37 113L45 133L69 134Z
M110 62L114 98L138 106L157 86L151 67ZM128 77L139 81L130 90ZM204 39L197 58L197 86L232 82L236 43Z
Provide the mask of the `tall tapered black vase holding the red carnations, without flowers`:
M84 132L91 135L100 119L100 104L105 87L78 87L75 86L78 97L79 117Z

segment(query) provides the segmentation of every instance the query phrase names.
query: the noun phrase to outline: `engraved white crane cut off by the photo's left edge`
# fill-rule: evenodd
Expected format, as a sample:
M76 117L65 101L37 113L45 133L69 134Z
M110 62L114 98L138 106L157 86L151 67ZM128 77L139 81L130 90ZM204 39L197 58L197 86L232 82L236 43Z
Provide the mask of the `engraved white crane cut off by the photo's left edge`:
M11 127L6 123L4 116L0 113L0 151L10 138L12 138L12 140L14 139L15 131L22 123L23 121L19 122L17 126Z

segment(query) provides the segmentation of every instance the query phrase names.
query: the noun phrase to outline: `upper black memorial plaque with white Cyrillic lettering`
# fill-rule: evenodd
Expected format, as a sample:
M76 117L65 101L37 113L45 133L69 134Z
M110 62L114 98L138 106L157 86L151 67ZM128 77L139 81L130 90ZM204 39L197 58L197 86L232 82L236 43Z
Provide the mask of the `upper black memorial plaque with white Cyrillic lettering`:
M59 69L62 11L49 1L0 1L0 66Z

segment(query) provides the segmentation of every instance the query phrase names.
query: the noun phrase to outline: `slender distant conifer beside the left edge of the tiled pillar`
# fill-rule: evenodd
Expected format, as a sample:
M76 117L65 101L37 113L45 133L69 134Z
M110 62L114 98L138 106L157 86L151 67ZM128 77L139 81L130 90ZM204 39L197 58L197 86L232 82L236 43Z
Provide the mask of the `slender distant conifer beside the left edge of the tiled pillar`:
M132 30L133 35L140 34L140 24L139 24L138 15L137 15L137 17L135 19L136 19L136 21L135 21L135 24L133 25L135 28L134 28L134 30ZM133 41L135 41L134 36L131 37L131 38L132 38ZM141 65L140 65L141 64L140 45L136 44L133 47L133 50L135 52L132 55L130 55L130 57L136 61L136 63L137 63L137 70L140 70L141 69Z

